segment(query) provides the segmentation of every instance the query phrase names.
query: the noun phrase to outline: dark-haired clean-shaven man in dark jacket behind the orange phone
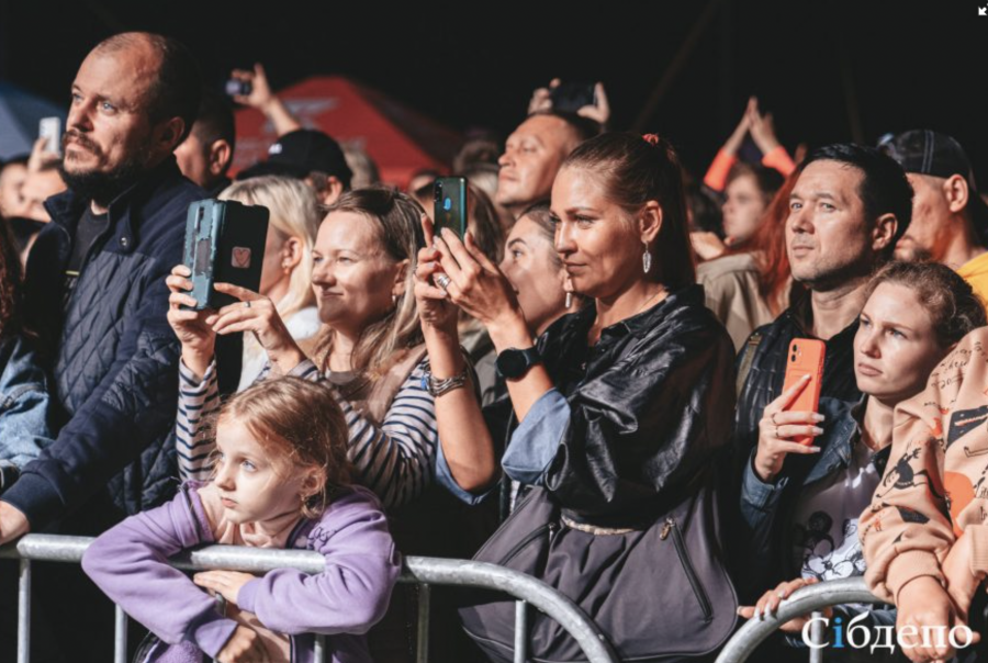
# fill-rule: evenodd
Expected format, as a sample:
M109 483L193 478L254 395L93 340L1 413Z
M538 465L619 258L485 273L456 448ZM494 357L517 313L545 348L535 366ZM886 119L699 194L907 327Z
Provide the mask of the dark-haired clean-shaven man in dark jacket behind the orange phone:
M789 344L817 338L827 344L822 396L861 398L854 380L853 341L864 289L872 271L889 260L906 232L912 189L891 158L871 147L830 145L799 166L789 196L786 252L793 279L808 292L775 322L755 329L738 357L742 380L734 417L734 451L751 462L765 406L782 394ZM736 480L740 480L738 471ZM749 533L739 533L749 540ZM763 591L750 564L739 589ZM740 580L740 578L739 578Z

